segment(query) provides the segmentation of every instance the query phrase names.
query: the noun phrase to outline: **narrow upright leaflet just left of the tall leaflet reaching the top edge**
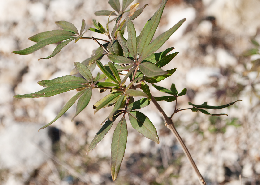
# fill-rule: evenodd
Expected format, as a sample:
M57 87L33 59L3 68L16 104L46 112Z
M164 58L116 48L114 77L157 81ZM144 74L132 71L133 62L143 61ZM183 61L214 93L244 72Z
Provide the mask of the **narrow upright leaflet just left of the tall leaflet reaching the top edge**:
M136 33L135 33L134 24L129 17L126 17L126 24L127 24L127 33L128 33L127 48L129 49L129 52L136 60L137 45L136 45Z

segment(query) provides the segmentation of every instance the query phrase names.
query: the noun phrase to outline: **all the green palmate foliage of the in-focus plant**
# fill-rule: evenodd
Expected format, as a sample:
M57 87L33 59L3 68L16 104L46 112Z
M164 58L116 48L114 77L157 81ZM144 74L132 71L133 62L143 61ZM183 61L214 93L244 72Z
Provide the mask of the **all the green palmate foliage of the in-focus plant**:
M164 33L160 34L152 41L154 33L160 22L165 4L167 2L167 0L162 0L162 3L160 4L157 12L155 12L152 18L147 21L140 35L136 36L135 27L132 20L139 16L146 5L143 6L141 9L136 10L139 5L139 3L136 3L131 5L129 10L126 10L128 5L130 5L132 2L133 0L123 0L121 8L119 0L109 0L108 3L117 13L109 10L101 10L95 12L97 16L103 15L109 16L109 18L110 16L116 16L116 18L110 21L108 18L106 28L104 28L99 22L97 23L96 20L93 19L93 25L95 26L95 28L87 29L97 33L106 34L110 41L106 41L106 43L102 45L97 41L97 39L92 37L96 42L100 44L100 47L97 48L92 57L86 59L84 62L75 62L75 70L72 71L72 74L76 74L77 72L79 72L83 78L66 75L52 80L42 80L38 82L38 84L46 87L43 90L36 93L14 96L15 98L38 98L49 97L74 89L76 89L76 91L79 91L66 103L66 105L61 109L61 111L53 121L40 128L43 129L52 124L62 114L64 114L76 102L77 99L79 100L77 102L75 116L78 115L88 105L92 97L93 89L99 89L99 92L109 90L110 93L101 98L93 106L93 108L95 109L94 113L96 113L101 108L109 107L112 105L114 105L114 107L111 113L105 119L105 123L103 122L104 124L102 128L97 132L94 139L90 143L87 152L90 152L96 147L96 145L110 130L114 121L120 115L122 115L114 130L111 144L111 173L113 180L116 179L119 173L120 165L126 149L127 125L125 115L128 114L129 121L136 131L140 132L145 137L153 140L155 143L159 143L159 137L157 135L156 128L154 127L152 122L148 119L146 115L137 111L136 109L148 106L151 99L155 99L156 101L164 100L172 102L174 100L177 100L177 97L185 95L187 91L187 89L185 88L178 94L178 91L176 90L174 84L172 84L170 90L154 85L155 83L158 83L161 80L164 80L165 78L171 76L176 71L176 68L164 71L161 69L161 67L168 64L178 54L178 52L168 54L174 48L168 48L160 53L154 52L157 51L168 40L168 38L183 24L186 19L180 20L176 25L174 25L172 28L165 31ZM125 19L121 21L123 14L126 12L129 12L128 15ZM113 27L113 30L110 34L109 23L111 23L112 21L115 22L115 26ZM55 48L52 55L47 57L50 58L59 53L59 51L73 39L75 39L75 43L79 39L82 39L83 34L86 32L85 31L83 33L86 26L84 19L82 21L80 33L77 31L76 27L73 24L66 21L57 21L56 24L63 30L53 30L36 34L29 39L37 42L37 44L24 50L13 51L13 53L27 55L46 45L64 41ZM125 28L127 28L128 32L127 40L123 37ZM106 65L103 65L100 62L101 58L104 55L106 55L110 60ZM97 76L93 78L91 71L95 68L96 65L99 67L102 74L97 73ZM120 78L120 75L124 77ZM127 78L130 79L129 84L126 84ZM157 90L168 93L171 96L153 97L150 93L147 83L152 84L152 86L155 87ZM134 101L133 97L136 96L141 96L144 98ZM206 103L202 105L194 105L190 103L190 105L193 106L193 108L190 109L192 109L192 111L194 112L199 110L204 114L211 115L202 108L220 109L228 107L233 103L235 102L219 107L207 106ZM180 110L175 109L174 113L178 111Z

